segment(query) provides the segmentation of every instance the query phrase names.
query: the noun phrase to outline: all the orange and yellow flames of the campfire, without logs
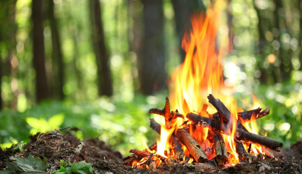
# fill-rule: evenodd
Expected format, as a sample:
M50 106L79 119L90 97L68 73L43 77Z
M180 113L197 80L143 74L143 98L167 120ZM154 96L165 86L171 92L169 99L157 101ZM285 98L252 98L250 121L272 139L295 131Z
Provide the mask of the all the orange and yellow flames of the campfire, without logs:
M227 88L223 85L221 59L228 51L229 41L228 37L222 34L220 47L216 42L222 7L223 1L217 0L214 5L207 9L206 14L191 17L191 31L185 33L182 39L182 48L186 51L185 62L176 68L172 74L169 91L172 110L177 109L178 112L183 115L189 112L198 112L203 116L209 117L209 113L217 112L214 107L207 107L206 103L208 102L207 96L209 93L223 101L231 112L231 117L227 125L229 132L228 135L223 134L223 139L227 151L230 153L229 163L235 165L239 163L235 143L238 120L237 112L241 112L243 109L237 108L236 100L231 97L230 90L232 90L232 88ZM230 90L226 91L228 89ZM253 100L253 108L258 108L260 104L254 95ZM249 122L245 122L243 125L248 131L257 133L258 129L255 124L256 117L254 116L253 118L250 122L251 127L249 126ZM188 119L185 117L185 120ZM169 144L169 137L176 128L180 128L183 122L184 119L177 118L175 122L171 122L171 125L161 126L161 136L157 141L156 152L155 150L150 150L143 140L146 150L165 157L166 159L169 158L166 154L168 154L168 156L169 154L174 156L173 148L171 144ZM194 137L205 150L207 150L207 147L213 146L213 143L207 139L208 128L198 127L198 125L194 127L190 122L187 124L190 125L190 134L192 137ZM172 149L172 153L170 153L170 149ZM183 144L182 149L188 160L190 152ZM262 153L262 148L252 144L252 151L255 154ZM185 162L186 157L183 158L182 163ZM193 161L194 159L190 158L188 163L192 163ZM141 162L138 162L138 164L139 163Z

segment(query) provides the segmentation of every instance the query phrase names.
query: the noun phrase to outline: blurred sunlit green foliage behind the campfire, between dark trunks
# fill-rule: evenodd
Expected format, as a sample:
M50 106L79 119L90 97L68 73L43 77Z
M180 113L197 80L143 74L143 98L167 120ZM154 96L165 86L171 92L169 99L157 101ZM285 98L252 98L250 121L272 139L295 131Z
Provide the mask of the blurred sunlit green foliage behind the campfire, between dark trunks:
M148 118L156 117L159 122L162 118L147 113L150 108L164 106L168 91L141 93L138 60L144 59L136 51L140 45L136 33L143 32L145 1L100 1L105 44L110 52L108 66L114 94L110 97L98 96L88 1L53 2L65 66L65 98L58 100L53 95L39 104L35 99L36 71L32 65L32 2L0 2L3 74L0 146L4 148L12 143L26 142L28 134L36 131L66 126L79 128L75 134L80 139L98 136L123 154L127 154L130 148L141 148L142 138L153 143L156 136L149 128ZM178 19L175 19L174 0L160 2L164 70L170 74L182 62L175 30ZM202 2L198 5L205 8L210 5L209 0L196 2ZM302 138L301 2L231 0L224 5L226 10L222 20L228 21L227 25L232 27L233 41L233 50L222 62L225 84L235 85L239 106L251 102L253 92L262 108L271 109L270 115L257 120L259 131L261 134L267 132L269 137L289 146ZM13 11L15 23L11 24L9 17ZM11 32L14 39L3 37L11 36ZM229 32L226 25L219 28L220 35ZM43 20L43 37L50 86L56 84L56 79L52 78L55 63L51 36L50 20L46 18Z

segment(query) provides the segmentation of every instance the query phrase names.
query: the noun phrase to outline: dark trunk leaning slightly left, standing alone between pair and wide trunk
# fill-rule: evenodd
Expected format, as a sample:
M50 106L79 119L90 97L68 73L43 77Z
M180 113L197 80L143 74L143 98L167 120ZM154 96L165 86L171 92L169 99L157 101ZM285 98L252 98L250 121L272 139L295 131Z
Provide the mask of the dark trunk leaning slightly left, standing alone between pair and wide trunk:
M89 0L92 40L98 67L98 93L111 96L112 80L109 66L109 54L105 46L104 29L101 21L101 5L99 0Z

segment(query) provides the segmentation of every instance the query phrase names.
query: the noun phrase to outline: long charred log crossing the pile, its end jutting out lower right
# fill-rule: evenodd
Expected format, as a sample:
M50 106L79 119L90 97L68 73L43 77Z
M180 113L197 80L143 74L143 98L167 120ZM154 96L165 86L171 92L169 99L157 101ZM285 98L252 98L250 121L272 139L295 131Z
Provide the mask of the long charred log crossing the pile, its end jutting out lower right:
M194 113L188 113L187 118L193 121L195 124L198 124L199 121L203 120L204 122L207 122L207 125L210 128L214 128L218 132L225 132L226 125L221 124L219 121L203 117ZM253 143L268 147L269 149L276 151L279 151L278 147L283 146L283 143L281 141L274 140L272 138L268 138L262 135L253 134L240 128L236 128L236 137L238 140L251 141Z

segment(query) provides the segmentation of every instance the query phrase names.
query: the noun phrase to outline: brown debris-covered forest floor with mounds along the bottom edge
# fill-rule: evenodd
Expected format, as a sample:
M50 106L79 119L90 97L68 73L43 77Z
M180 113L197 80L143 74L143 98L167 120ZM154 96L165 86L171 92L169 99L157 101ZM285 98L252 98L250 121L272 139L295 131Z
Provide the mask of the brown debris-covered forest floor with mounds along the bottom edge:
M218 169L214 166L200 167L197 163L191 165L178 164L173 167L159 167L157 171L146 168L136 169L122 165L122 155L114 151L108 144L99 141L97 138L81 142L69 131L64 134L59 130L47 133L37 133L30 136L31 141L23 147L14 145L6 150L0 148L0 173L26 173L30 170L40 171L39 173L69 174L67 168L71 166L73 173L81 173L80 170L89 171L88 168L72 167L72 162L85 161L90 163L91 173L301 173L302 165L302 141L293 144L288 149L282 149L273 159L254 160L243 162L235 166ZM34 158L31 158L34 157ZM34 162L24 164L18 163L20 159L35 161L44 159L45 169L39 169ZM46 159L46 160L45 160ZM63 160L70 163L63 165ZM47 161L47 162L46 162ZM40 160L37 163L42 164ZM25 166L25 167L24 167ZM41 166L41 165L40 165ZM89 167L88 166L88 167ZM86 166L87 167L87 166ZM66 168L66 170L65 170ZM70 168L70 167L69 167ZM4 171L3 171L4 170ZM93 172L92 172L93 170ZM33 172L31 172L33 173ZM83 173L83 172L82 172ZM84 172L87 173L87 172Z

